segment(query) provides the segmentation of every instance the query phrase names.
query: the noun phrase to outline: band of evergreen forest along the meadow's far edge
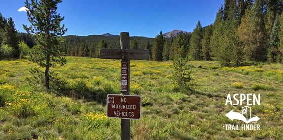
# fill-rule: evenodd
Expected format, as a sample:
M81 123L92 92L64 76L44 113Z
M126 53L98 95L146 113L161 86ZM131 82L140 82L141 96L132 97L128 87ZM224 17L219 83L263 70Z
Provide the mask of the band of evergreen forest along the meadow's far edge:
M192 33L166 39L162 31L155 38L130 37L130 46L149 49L150 60L155 61L173 60L178 48L184 46L184 56L191 60L216 60L224 66L241 66L247 61L282 63L282 10L282 0L225 0L209 26L202 27L198 21ZM1 20L2 45L12 45L9 47L14 47L13 57L18 57L17 45L8 44L7 39L11 38L5 34L8 27L4 26L12 26L12 20L10 24L6 18ZM30 48L35 45L31 35L18 35ZM120 48L118 36L69 35L63 38L64 52L68 56L99 57L101 48Z

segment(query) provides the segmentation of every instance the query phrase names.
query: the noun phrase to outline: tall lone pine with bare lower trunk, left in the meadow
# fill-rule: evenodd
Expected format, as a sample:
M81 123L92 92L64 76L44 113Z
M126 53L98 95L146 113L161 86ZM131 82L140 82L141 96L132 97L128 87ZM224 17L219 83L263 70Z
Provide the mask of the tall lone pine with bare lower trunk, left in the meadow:
M60 27L60 22L64 19L60 14L57 14L57 4L62 0L40 0L40 2L28 0L25 2L28 20L31 26L26 25L24 29L29 34L33 34L36 46L33 47L30 53L30 60L36 62L41 67L45 67L45 86L49 89L49 80L52 77L50 67L60 64L63 66L67 60L61 44L64 42L62 35L65 34L67 28L64 25Z

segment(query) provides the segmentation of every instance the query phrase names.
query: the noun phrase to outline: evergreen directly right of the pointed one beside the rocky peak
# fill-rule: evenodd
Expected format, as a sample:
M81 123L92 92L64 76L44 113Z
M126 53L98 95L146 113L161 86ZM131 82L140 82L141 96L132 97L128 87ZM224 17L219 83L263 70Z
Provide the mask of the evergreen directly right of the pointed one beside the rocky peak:
M206 61L211 60L210 58L210 52L211 52L210 37L211 36L212 36L212 25L209 25L206 27L205 33L202 39L202 56L203 56L203 59Z

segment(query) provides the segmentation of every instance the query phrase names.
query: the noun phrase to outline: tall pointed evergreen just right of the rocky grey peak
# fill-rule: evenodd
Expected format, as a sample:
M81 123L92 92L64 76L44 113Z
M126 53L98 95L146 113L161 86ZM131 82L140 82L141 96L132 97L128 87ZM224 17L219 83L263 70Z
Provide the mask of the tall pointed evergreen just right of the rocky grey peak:
M190 56L192 60L202 60L202 25L198 21L190 40Z

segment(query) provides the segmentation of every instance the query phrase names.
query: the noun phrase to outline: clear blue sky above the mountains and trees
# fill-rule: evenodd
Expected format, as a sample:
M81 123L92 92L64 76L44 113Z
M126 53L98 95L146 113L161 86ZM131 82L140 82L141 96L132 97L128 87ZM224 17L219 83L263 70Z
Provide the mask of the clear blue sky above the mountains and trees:
M2 0L0 12L12 17L16 30L30 25L26 12L18 9L26 0ZM172 30L192 32L200 20L202 27L212 24L224 0L62 0L58 13L65 19L65 35L119 35L154 38ZM64 36L65 36L64 35Z

